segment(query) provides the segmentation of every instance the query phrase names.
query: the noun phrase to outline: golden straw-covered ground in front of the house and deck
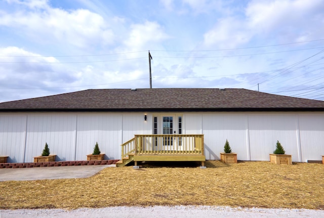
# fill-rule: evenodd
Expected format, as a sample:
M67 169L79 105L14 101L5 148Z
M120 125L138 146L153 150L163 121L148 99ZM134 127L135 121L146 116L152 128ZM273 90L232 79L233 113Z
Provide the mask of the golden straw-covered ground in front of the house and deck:
M187 165L185 165L187 164ZM86 179L0 182L1 209L148 205L324 209L324 165L265 161L108 167ZM64 166L62 166L64 167Z

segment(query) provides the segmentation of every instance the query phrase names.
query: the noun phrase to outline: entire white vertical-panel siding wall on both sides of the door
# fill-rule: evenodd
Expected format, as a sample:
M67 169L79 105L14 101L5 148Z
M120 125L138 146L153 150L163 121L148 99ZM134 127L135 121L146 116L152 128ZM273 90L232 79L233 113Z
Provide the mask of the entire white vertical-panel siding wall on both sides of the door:
M153 134L152 115L166 113L2 113L0 155L32 162L49 144L57 160L85 160L98 142L106 159L120 159L120 144ZM170 113L171 114L171 113ZM172 114L174 115L174 114ZM226 139L239 160L269 160L279 140L293 161L324 154L323 112L183 113L183 134L204 134L207 159L219 159Z

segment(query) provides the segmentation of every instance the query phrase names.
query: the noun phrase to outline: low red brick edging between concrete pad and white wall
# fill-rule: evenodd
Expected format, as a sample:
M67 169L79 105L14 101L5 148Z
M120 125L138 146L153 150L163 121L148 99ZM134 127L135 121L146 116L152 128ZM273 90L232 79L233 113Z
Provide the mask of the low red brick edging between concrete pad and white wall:
M30 168L49 166L85 166L85 165L110 165L116 164L118 160L76 160L76 161L53 161L41 163L0 163L1 168Z

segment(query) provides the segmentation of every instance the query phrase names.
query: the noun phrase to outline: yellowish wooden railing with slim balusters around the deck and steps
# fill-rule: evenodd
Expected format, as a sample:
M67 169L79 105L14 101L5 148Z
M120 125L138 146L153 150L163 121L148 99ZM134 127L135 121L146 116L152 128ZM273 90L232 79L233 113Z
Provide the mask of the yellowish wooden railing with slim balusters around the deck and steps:
M121 158L132 153L204 155L204 135L135 135L121 145Z

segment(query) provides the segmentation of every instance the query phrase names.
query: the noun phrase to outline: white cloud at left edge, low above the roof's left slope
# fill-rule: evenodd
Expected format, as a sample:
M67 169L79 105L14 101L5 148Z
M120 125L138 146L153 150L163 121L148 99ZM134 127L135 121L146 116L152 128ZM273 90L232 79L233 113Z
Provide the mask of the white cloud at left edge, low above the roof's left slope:
M75 77L54 57L43 57L17 47L0 48L0 86L5 89L64 86ZM50 63L50 64L49 64Z

